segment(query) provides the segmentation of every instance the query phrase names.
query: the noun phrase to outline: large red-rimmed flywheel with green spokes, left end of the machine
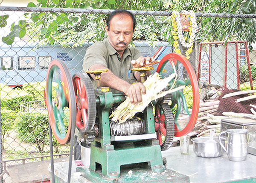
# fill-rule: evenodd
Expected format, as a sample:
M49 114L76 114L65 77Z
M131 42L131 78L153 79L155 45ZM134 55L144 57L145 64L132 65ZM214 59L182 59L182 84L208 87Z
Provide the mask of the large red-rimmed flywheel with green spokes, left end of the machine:
M70 73L61 60L49 64L45 97L52 132L59 143L65 144L76 120L76 99Z

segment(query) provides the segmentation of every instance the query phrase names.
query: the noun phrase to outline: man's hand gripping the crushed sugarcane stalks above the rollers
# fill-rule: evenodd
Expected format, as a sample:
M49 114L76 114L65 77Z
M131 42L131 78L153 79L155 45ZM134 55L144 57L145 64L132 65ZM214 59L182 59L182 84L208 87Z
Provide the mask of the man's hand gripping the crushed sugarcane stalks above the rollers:
M134 83L125 87L125 94L132 104L142 102L142 94L146 94L146 88L142 83Z

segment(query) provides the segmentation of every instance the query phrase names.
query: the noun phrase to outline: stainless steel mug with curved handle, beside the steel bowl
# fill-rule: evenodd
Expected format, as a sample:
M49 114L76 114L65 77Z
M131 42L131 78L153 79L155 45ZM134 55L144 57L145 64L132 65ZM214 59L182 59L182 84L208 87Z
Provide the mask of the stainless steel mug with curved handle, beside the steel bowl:
M231 161L243 161L248 153L247 129L227 129L219 134L219 143ZM227 133L227 149L221 143L221 135Z

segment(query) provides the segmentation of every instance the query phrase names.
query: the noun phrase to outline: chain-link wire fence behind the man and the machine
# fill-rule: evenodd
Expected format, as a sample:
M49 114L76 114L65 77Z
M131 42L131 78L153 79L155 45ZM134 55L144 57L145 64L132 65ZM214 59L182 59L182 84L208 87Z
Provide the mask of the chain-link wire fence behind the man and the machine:
M86 49L106 38L105 19L111 11L0 7L2 169L49 159L44 104L49 62L63 60L71 76L81 72ZM173 52L172 12L131 12L138 23L131 46L155 59ZM256 15L195 15L198 32L189 61L200 86L211 83L230 89L255 88ZM179 48L185 54L181 44ZM68 153L68 145L54 142L54 154ZM8 175L3 173L5 180Z

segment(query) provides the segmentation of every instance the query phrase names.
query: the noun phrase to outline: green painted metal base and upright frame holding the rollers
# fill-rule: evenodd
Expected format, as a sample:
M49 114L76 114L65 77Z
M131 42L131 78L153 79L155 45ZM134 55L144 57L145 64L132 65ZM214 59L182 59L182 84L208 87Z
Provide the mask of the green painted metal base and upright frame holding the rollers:
M111 142L109 111L114 103L124 100L123 95L111 92L98 94L97 111L99 117L99 134L91 143L90 169L96 171L100 164L102 175L108 178L119 178L123 165L147 162L150 172L164 172L161 148L158 140L129 140ZM153 106L144 110L145 133L152 134L154 129Z

